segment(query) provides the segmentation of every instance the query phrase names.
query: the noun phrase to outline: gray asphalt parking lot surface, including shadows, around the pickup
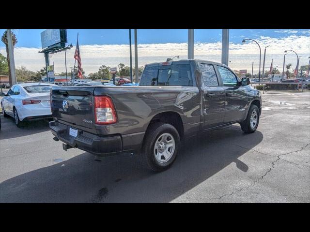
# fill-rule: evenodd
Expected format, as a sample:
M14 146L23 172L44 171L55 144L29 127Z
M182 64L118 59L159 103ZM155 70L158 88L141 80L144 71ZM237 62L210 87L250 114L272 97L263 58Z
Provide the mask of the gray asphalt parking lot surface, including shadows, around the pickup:
M136 155L62 150L47 121L1 115L0 202L310 203L310 93L264 94L258 130L238 124L185 141L171 169Z

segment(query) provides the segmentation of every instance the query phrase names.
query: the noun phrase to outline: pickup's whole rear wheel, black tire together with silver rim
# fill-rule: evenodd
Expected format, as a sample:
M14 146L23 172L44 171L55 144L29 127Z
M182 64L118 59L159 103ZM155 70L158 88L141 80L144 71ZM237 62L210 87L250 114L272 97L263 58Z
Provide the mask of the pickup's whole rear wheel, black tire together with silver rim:
M180 145L178 131L168 123L152 123L142 145L142 160L155 172L168 169L175 160Z

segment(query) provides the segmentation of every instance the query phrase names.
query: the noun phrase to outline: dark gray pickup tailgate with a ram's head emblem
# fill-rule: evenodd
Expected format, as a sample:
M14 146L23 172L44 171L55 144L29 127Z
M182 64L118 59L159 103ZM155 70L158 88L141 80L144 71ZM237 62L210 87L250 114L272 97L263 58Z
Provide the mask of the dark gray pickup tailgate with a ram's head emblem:
M93 90L95 87L53 87L52 116L67 125L95 132Z

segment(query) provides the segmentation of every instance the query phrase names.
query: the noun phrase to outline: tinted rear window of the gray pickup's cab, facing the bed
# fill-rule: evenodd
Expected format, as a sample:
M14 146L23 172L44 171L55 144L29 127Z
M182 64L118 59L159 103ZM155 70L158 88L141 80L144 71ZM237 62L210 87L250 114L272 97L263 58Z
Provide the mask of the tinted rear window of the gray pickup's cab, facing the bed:
M139 86L193 86L190 64L146 66Z

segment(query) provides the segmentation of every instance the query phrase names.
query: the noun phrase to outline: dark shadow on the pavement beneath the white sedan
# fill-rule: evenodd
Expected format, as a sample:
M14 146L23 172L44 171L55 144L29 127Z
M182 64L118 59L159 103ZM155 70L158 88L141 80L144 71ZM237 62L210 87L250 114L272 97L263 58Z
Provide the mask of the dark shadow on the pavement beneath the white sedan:
M14 123L13 117L3 117L2 115L0 117L0 139L12 139L49 130L47 119L26 122L22 128L18 128Z

